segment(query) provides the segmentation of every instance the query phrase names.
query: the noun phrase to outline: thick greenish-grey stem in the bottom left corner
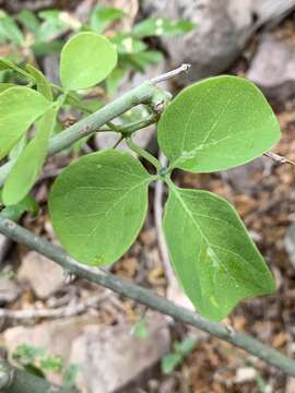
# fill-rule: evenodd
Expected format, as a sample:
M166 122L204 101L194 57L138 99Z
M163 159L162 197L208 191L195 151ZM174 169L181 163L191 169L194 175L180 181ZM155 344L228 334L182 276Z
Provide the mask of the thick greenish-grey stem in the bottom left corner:
M0 361L0 389L5 393L78 393L75 388L50 384L43 378Z

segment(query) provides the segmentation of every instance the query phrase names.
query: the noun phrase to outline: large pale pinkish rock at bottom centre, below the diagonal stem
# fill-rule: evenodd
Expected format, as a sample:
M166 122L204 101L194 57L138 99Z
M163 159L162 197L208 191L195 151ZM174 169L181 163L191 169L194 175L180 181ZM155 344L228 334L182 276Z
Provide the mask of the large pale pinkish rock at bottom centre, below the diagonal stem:
M166 319L149 319L150 336L133 337L132 326L86 326L72 346L71 362L83 365L78 386L87 393L110 393L141 379L169 352Z

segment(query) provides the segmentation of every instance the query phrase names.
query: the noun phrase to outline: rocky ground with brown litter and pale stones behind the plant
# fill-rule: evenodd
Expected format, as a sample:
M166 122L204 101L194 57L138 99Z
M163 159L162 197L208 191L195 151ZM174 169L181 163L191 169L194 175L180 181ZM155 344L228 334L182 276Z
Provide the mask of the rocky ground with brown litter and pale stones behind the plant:
M115 3L128 8L135 2ZM271 100L282 127L282 140L275 153L295 160L295 15L290 13L282 22L286 10L274 7L270 12L266 7L259 11L250 0L206 0L200 1L202 7L196 3L143 2L143 14L160 14L165 10L172 17L196 17L200 26L188 35L186 45L181 38L157 44L167 52L166 68L192 62L192 73L182 80L186 83L219 72L255 81ZM275 3L280 2L273 1L272 5ZM293 2L288 4L292 7ZM266 24L268 28L262 27ZM49 159L34 190L43 206L42 214L36 219L28 216L23 219L27 228L52 241L46 199L52 178L68 159L64 155ZM267 157L221 174L175 172L179 184L214 191L236 206L274 273L276 294L245 301L226 322L291 357L295 356L294 179L294 166ZM187 299L175 287L158 236L162 194L165 198L165 189L151 190L152 207L144 228L128 254L111 270L186 303ZM295 392L295 379L286 378L243 350L85 281L71 281L54 262L11 245L1 236L0 261L2 345L9 354L23 343L46 347L50 354L61 355L66 364L81 365L76 381L83 392ZM148 329L144 338L132 334L143 317ZM188 335L196 340L194 349L175 371L163 374L161 358L176 341ZM49 378L60 382L59 374L50 373Z

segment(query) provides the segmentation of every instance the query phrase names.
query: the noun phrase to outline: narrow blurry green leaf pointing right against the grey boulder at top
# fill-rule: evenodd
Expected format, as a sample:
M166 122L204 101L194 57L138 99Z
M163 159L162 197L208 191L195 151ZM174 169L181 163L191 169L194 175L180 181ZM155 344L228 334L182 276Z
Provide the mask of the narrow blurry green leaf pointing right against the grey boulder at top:
M191 32L196 27L189 21L170 21L167 17L149 17L134 25L132 34L138 37L174 36Z

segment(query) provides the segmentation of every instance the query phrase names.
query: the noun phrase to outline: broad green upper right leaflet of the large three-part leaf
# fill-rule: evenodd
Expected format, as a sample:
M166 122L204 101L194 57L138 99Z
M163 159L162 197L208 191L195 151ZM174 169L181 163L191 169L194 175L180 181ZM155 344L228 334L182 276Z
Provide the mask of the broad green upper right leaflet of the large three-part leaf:
M158 122L158 143L174 167L224 170L261 156L280 140L279 122L262 93L236 76L185 88Z

